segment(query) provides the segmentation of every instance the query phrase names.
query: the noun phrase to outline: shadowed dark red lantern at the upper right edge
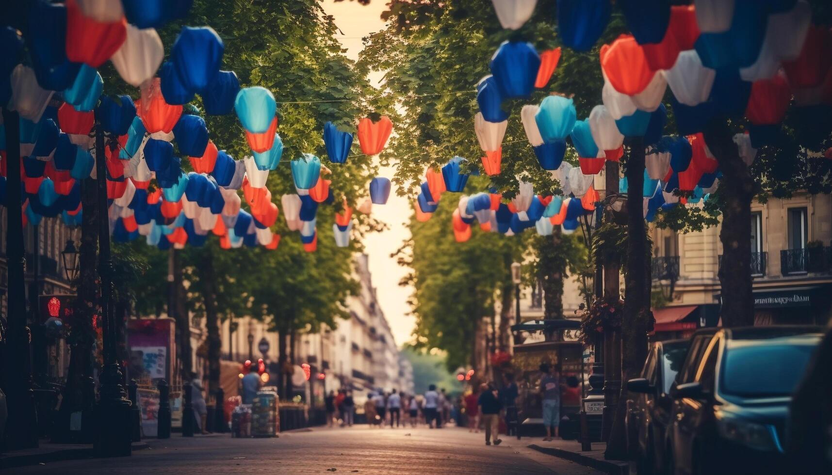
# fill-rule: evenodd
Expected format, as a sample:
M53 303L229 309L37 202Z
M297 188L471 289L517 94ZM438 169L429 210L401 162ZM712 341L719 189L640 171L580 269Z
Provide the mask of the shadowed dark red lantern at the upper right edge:
M783 62L791 87L817 87L832 67L832 30L811 25L795 61Z

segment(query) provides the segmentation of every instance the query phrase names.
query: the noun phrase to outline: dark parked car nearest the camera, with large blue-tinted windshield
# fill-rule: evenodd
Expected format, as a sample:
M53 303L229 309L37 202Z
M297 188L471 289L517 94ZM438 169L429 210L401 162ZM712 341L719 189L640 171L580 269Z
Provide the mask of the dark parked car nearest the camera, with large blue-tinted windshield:
M721 329L699 348L694 341L670 390L669 472L790 473L791 393L822 336L818 327L770 326Z

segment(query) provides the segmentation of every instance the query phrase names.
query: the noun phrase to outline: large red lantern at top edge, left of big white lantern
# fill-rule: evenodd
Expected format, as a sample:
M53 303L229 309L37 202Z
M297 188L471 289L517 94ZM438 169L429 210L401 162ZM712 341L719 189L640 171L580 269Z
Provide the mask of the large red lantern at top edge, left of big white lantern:
M35 19L37 22L37 19ZM67 59L100 67L118 51L127 37L124 17L116 22L97 22L85 17L76 0L67 0Z

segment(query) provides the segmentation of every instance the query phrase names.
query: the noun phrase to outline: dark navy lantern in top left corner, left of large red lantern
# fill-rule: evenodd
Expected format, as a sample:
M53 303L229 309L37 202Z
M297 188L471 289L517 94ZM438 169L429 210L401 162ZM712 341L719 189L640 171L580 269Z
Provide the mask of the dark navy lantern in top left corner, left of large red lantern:
M28 22L29 31L37 32L25 37L37 84L52 91L72 86L81 64L67 60L67 7L35 0Z

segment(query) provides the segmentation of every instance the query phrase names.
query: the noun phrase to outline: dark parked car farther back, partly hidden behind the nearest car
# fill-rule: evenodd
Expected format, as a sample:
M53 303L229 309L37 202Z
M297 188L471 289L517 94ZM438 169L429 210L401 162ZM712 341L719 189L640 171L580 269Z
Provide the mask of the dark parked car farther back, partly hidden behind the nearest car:
M685 362L690 344L687 339L652 344L641 376L626 384L630 392L626 414L627 446L636 459L640 475L661 472L665 466L664 441L673 408L673 399L668 393Z

